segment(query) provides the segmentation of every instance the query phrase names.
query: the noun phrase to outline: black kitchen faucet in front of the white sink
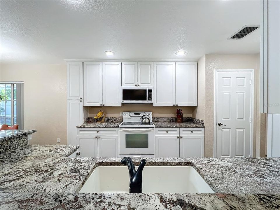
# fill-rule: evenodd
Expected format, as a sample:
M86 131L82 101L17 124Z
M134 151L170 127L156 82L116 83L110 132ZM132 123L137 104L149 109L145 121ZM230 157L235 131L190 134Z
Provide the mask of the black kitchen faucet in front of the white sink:
M122 158L121 163L127 165L129 171L129 192L142 192L142 171L146 164L146 160L143 159L135 172L135 166L130 157Z

